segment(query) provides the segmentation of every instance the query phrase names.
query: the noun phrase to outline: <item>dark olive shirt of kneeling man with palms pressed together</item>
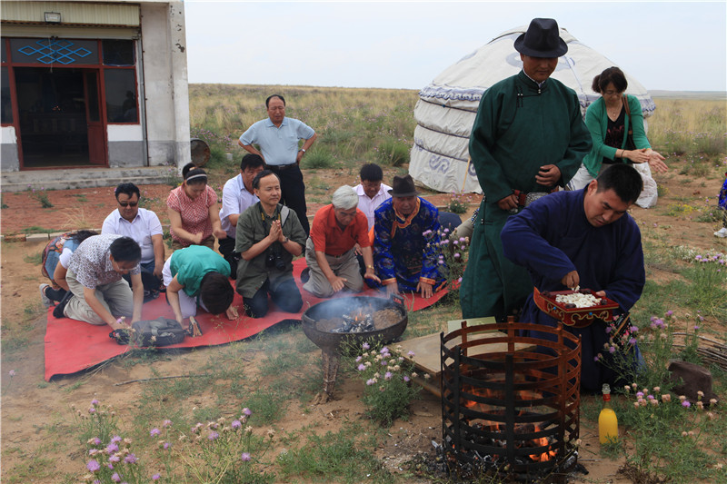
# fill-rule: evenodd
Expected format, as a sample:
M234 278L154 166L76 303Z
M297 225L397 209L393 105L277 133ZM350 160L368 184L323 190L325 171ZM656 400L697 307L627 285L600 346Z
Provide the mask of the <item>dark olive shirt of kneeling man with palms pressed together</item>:
M283 210L284 209L284 210ZM283 211L283 212L281 212ZM270 226L280 218L283 225L283 236L305 247L305 231L294 211L278 203L274 216L269 217L263 210L260 202L247 208L237 219L234 251L247 252L255 243L262 241L270 233ZM265 260L271 251L277 250L285 263L283 271L274 266L267 267ZM286 251L280 242L274 242L267 250L250 261L241 259L237 263L237 292L245 298L252 298L267 281L270 288L275 288L284 281L293 278L293 254Z

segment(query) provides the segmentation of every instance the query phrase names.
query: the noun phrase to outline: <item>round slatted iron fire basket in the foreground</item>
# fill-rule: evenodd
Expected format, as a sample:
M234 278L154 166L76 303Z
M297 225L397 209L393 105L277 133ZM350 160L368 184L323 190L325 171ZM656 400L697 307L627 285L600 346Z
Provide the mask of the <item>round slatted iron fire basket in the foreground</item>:
M517 336L520 330L548 333L552 341ZM470 337L488 331L491 336ZM448 347L457 337L461 344ZM529 481L558 480L573 469L580 432L580 338L563 324L508 322L463 325L442 333L441 342L443 449L457 472L495 471ZM501 344L493 351L495 343ZM516 343L527 347L516 351Z

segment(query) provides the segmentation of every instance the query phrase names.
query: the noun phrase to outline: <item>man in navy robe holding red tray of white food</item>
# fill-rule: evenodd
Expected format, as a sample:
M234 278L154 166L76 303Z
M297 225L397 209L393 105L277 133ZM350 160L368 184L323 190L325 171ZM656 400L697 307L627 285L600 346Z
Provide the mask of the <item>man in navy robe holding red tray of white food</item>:
M645 273L641 232L626 211L641 193L641 175L628 164L614 164L583 190L552 193L511 217L501 233L504 255L524 266L540 291L580 285L596 297L618 302L616 312L630 311L642 295ZM538 309L532 293L521 320L557 324ZM603 383L613 385L619 375L609 368L612 355L604 351L610 338L606 323L566 329L581 337L581 387L597 391ZM553 339L529 332L534 338ZM634 357L638 354L636 349Z

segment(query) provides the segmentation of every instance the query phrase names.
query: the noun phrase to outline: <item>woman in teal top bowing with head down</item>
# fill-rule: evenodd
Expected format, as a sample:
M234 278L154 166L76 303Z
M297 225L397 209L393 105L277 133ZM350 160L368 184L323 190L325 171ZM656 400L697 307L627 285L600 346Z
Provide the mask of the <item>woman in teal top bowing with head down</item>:
M198 305L212 314L224 312L230 320L237 317L234 290L228 279L230 264L209 247L190 245L174 251L164 262L162 276L166 300L180 324L197 314Z

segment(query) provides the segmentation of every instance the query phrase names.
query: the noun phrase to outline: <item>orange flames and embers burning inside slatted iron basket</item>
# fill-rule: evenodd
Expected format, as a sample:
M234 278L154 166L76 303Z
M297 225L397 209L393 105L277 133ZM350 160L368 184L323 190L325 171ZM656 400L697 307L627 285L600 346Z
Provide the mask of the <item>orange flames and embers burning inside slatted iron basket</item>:
M498 394L498 392L490 390L490 389L483 389L483 388L464 388L464 391L467 393L471 393L473 395L477 395L486 399L494 399L494 400L501 400L503 401L503 394ZM517 391L515 392L515 398L513 400L533 400L533 396L529 395L525 391ZM479 413L483 414L491 414L491 415L504 415L504 410L499 409L492 405L487 405L484 403L480 403L473 400L463 400L463 405L467 407L468 409L472 409L474 411L477 411ZM519 410L516 413L516 416L523 416L526 415L527 412L523 410ZM493 420L484 420L484 419L478 419L477 422L483 430L491 431L491 432L497 432L504 434L505 432L505 426L502 422L497 422ZM515 424L515 434L531 434L536 433L543 430L543 427L539 426L538 424L534 423L521 423ZM494 440L497 445L501 447L505 447L507 445L507 442L504 440ZM545 462L550 459L554 459L557 456L557 453L555 450L550 449L551 448L551 442L548 440L547 437L540 437L536 439L531 440L515 440L515 449L522 449L523 447L548 447L549 450L546 452L543 452L541 454L529 454L528 457L530 459L533 459L533 462Z

